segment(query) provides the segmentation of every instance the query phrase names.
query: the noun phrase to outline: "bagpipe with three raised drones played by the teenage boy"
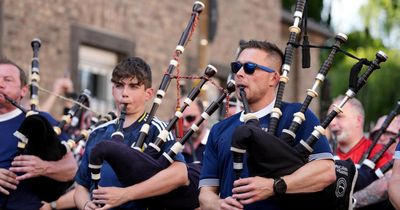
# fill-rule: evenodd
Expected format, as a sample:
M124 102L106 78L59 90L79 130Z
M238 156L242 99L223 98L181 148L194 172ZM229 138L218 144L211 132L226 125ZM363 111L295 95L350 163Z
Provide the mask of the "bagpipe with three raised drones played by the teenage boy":
M191 130L188 131L182 139L177 141L171 148L169 148L167 152L161 153L161 146L167 140L167 137L174 128L175 124L182 117L182 112L200 93L201 87L209 80L209 78L215 75L216 69L213 66L208 65L205 69L204 75L201 77L201 81L191 90L188 97L184 100L183 106L180 110L176 111L174 118L169 122L168 126L159 133L154 142L150 143L145 149L143 149L152 120L173 77L172 73L178 66L179 56L183 53L184 47L191 37L196 22L198 21L198 16L203 9L203 3L199 1L194 3L189 23L181 35L178 46L175 49L173 59L170 61L168 69L162 78L151 110L140 130L136 143L133 145L133 149L123 144L122 141L118 141L117 139L121 140L119 137L113 136L111 140L102 141L96 144L96 146L90 152L89 168L91 170L92 181L95 185L94 188L98 187L98 182L101 178L100 171L104 161L107 161L107 163L113 168L118 180L123 186L131 186L133 184L140 183L149 179L161 170L166 169L171 165L174 157L180 152L183 144L189 139L194 131L198 129L198 126L215 110L218 109L223 99L229 93L234 91L234 83L229 83L227 90L222 93L216 102L211 103L211 105L201 115L202 118L192 125ZM188 177L190 181L189 186L182 186L164 195L142 199L139 202L143 202L147 207L156 209L197 208L199 206L197 199L199 194L199 167L200 165L198 164L188 164Z

